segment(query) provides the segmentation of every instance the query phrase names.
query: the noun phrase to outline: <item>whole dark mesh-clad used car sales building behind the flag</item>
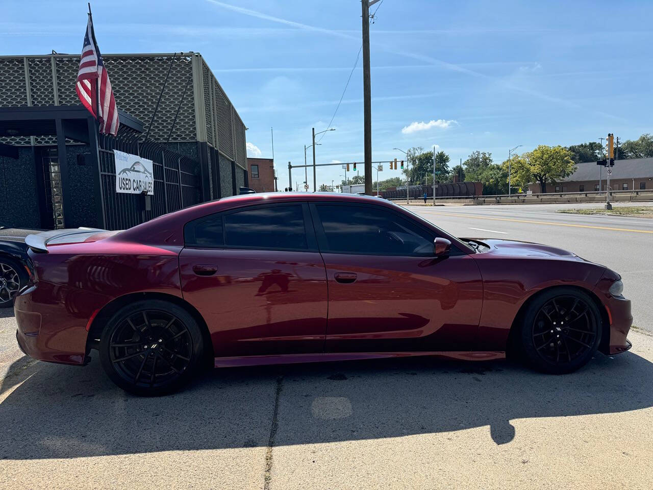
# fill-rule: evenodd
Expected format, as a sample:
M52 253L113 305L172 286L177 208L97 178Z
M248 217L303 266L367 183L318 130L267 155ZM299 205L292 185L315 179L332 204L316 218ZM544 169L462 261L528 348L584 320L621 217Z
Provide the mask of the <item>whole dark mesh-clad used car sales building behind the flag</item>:
M247 128L199 53L103 58L116 138L93 134L79 56L0 57L0 225L119 229L249 184ZM151 198L116 193L114 149L153 161Z

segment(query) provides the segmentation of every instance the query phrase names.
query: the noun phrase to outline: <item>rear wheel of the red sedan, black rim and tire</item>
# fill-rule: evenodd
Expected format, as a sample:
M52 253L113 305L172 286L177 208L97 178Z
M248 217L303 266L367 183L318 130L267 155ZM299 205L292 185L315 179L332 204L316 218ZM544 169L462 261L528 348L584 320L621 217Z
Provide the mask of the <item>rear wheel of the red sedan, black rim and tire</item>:
M197 321L181 306L136 301L104 325L100 360L111 380L129 393L158 396L189 384L204 352Z

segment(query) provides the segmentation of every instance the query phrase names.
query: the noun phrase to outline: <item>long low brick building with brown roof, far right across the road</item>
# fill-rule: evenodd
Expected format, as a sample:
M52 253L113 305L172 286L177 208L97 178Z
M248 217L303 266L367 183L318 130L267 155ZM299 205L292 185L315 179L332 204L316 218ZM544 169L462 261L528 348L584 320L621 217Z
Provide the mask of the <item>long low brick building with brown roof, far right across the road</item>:
M607 167L596 165L596 161L579 163L577 170L569 177L556 183L547 183L547 193L605 191ZM610 187L613 191L639 191L653 189L653 158L617 160L611 167ZM539 184L529 184L528 189L537 194Z

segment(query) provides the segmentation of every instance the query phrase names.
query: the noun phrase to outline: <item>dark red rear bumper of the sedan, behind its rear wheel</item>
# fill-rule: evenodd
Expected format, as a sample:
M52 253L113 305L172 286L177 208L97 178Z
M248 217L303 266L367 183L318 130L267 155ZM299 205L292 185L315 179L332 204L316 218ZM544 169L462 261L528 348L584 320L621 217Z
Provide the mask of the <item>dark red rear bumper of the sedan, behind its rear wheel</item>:
M39 361L84 365L86 356L86 323L91 314L90 301L84 293L39 282L14 301L16 340L25 354Z

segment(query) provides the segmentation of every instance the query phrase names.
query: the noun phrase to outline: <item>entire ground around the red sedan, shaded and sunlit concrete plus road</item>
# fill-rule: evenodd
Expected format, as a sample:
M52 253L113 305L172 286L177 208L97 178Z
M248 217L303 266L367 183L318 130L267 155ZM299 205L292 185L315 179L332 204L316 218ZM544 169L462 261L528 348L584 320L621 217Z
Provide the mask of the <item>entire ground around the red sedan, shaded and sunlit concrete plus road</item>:
M653 236L605 229L651 229L648 221L524 208L416 206L456 235L481 228L593 260L606 242L614 250L599 261L624 274L635 316L650 327L636 299L650 287L629 271L652 269ZM644 328L631 331L631 351L597 354L565 376L507 361L386 359L214 370L154 399L123 393L97 359L84 368L30 361L14 332L0 310L0 489L653 487L653 336Z

